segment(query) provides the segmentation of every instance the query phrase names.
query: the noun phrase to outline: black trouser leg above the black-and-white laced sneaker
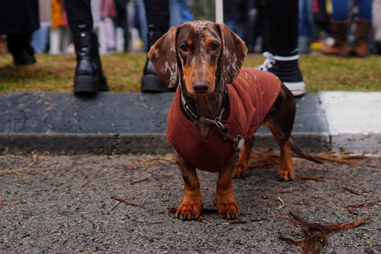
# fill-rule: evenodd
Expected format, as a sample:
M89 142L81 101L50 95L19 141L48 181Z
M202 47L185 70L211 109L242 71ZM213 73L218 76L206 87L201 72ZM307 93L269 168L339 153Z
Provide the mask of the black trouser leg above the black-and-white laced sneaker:
M266 36L273 55L293 56L298 48L298 0L265 0Z

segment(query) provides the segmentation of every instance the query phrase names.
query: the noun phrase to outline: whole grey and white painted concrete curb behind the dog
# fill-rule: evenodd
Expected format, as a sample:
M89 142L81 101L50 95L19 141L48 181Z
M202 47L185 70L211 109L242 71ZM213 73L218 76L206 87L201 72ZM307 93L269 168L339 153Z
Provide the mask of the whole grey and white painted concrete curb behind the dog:
M0 150L163 154L172 150L165 131L173 96L100 93L84 99L71 93L0 94ZM380 151L380 98L381 93L306 94L297 99L293 140L306 151ZM356 128L345 128L352 122ZM276 148L266 129L258 130L256 146Z

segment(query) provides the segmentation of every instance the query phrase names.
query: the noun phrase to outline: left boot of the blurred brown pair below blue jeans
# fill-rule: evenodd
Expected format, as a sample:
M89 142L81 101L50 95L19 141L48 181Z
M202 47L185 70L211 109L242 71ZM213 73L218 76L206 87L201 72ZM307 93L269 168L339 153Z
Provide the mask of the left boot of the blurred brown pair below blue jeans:
M320 52L327 55L348 56L350 53L347 44L348 21L331 20L331 24L335 43L332 46L323 46Z

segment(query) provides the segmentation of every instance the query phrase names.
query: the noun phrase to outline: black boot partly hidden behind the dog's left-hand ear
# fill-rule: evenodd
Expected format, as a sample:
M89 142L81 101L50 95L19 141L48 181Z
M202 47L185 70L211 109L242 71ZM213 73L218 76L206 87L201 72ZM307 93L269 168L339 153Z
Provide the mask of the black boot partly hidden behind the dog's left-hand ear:
M148 50L163 34L163 32L148 32ZM170 89L161 82L155 68L148 58L145 62L143 76L141 77L141 91L143 93L162 93L170 91Z

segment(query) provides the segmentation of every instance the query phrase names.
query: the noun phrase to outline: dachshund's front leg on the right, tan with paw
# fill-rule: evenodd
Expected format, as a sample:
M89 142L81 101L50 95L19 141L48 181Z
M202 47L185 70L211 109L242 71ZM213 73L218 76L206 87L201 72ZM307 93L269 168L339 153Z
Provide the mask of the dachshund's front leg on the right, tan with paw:
M233 174L237 165L238 153L234 153L228 159L226 165L219 171L217 180L217 190L214 203L218 208L218 215L227 219L237 218L240 214L237 201L233 195Z

